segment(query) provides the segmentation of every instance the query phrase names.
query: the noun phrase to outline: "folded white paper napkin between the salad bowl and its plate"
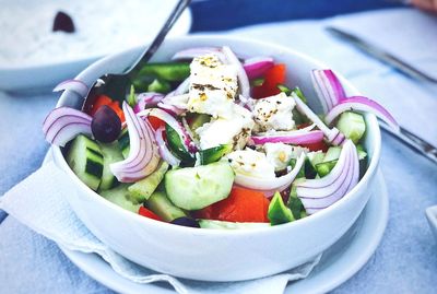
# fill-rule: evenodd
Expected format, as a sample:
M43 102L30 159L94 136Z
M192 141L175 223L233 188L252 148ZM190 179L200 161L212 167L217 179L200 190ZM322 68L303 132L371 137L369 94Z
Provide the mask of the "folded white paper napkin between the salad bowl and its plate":
M283 293L288 281L306 278L320 256L286 272L244 282L199 282L176 279L138 266L98 240L76 217L66 193L78 192L74 184L52 161L0 198L0 209L38 234L70 249L97 254L121 277L137 283L167 282L178 293Z

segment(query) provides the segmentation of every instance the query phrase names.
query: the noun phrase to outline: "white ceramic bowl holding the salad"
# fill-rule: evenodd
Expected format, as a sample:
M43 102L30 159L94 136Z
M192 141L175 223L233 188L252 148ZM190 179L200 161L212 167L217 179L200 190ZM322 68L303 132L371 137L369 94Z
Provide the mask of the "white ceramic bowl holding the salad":
M169 60L184 48L223 45L244 56L272 56L275 61L286 63L287 85L298 85L308 96L310 106L321 109L311 85L310 70L326 67L288 48L223 36L186 36L165 40L153 61ZM102 59L78 78L92 84L104 73L125 69L139 52L137 48ZM349 94L358 94L349 82L341 80ZM74 93L66 92L58 106L80 107L81 104L82 99ZM54 148L54 156L80 189L68 199L72 209L91 232L115 251L139 264L176 277L205 281L248 280L279 273L311 259L335 243L358 217L369 199L380 154L377 120L373 115L366 115L365 119L364 145L370 161L358 185L315 215L258 230L198 230L137 215L88 189L70 169L59 148Z

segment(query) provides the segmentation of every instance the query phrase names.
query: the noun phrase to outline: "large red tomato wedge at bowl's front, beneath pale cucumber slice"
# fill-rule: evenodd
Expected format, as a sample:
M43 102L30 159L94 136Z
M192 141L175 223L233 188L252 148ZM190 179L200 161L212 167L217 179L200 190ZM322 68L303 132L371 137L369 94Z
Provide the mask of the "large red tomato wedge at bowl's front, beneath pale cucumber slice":
M226 222L268 223L269 203L262 192L234 187L226 199L196 211L193 215Z

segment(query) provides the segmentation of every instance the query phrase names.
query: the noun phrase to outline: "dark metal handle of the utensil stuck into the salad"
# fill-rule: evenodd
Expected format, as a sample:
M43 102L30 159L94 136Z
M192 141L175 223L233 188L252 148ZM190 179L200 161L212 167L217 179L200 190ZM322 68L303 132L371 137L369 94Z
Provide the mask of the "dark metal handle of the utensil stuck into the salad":
M139 59L129 68L127 68L123 73L129 73L131 71L137 71L141 69L152 56L156 52L157 48L160 48L161 44L164 42L165 36L172 30L176 21L179 19L180 14L185 11L185 9L190 4L191 0L179 0L176 7L173 9L172 14L168 16L167 21L161 28L160 33L153 39L152 44L144 50L144 52L139 57Z

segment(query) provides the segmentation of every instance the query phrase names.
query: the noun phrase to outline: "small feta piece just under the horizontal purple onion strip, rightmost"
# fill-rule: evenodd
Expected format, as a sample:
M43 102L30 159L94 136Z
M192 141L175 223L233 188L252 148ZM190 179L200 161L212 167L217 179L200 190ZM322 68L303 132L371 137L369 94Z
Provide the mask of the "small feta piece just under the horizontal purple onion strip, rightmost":
M274 166L274 170L283 170L292 158L298 158L307 149L292 146L284 143L265 143L263 145L267 160Z

